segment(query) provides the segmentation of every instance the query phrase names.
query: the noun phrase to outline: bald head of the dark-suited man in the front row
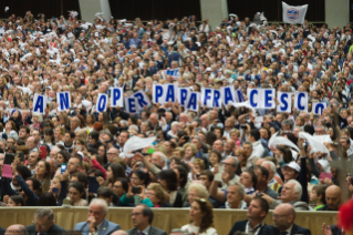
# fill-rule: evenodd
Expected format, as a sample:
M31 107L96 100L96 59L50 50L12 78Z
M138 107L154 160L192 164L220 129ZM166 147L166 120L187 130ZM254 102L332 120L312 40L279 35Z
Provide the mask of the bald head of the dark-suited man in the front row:
M280 232L290 228L295 218L294 207L289 203L282 203L278 205L272 213L273 227Z

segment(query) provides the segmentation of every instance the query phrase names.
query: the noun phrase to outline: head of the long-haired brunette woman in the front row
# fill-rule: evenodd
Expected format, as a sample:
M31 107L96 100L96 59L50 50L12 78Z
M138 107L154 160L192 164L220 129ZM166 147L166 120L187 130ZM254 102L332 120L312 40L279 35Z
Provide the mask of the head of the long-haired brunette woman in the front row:
M199 233L205 233L207 228L214 226L212 204L205 198L196 197L190 204L190 223L200 223Z

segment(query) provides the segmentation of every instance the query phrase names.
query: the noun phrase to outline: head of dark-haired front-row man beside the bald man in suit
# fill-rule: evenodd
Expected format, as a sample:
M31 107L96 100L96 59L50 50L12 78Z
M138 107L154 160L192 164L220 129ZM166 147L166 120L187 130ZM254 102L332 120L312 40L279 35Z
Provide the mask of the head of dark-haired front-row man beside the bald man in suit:
M247 217L249 219L263 219L270 210L269 203L261 196L256 196L250 201Z

